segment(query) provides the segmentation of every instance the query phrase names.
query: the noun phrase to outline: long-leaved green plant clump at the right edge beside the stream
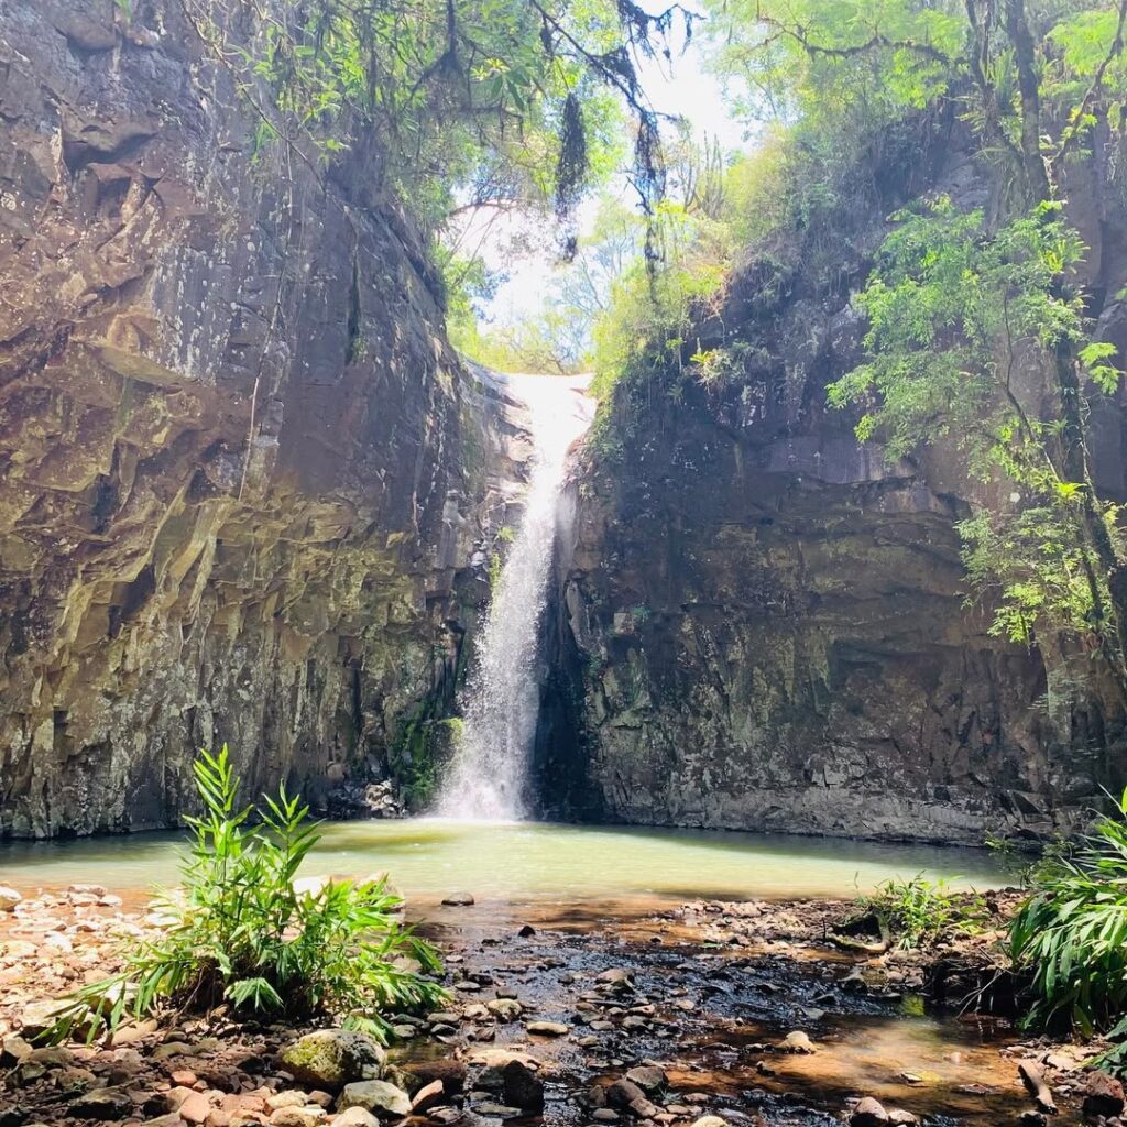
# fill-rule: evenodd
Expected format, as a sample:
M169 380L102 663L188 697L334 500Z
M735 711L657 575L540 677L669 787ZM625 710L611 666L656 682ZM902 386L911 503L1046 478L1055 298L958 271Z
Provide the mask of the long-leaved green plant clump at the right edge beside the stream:
M1127 1064L1127 791L1089 835L1047 853L1029 882L1010 932L1037 999L1027 1024L1107 1030L1118 1042L1109 1058Z

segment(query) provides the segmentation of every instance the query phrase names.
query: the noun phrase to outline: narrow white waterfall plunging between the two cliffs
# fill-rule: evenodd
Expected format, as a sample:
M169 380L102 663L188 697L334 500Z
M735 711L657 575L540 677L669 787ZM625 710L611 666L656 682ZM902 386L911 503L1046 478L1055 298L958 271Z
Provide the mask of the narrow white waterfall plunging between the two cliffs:
M529 760L540 711L540 619L568 447L591 425L586 384L586 378L550 375L508 381L531 419L527 495L470 669L464 724L437 804L436 813L444 817L517 820L529 811Z

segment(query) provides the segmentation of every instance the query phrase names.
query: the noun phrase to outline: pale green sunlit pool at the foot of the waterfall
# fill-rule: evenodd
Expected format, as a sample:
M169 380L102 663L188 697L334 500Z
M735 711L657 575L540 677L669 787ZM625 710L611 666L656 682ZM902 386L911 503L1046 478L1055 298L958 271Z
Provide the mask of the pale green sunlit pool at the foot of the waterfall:
M479 900L852 896L889 877L925 872L987 888L1006 884L984 850L726 831L547 823L326 823L302 873L391 873L408 897L454 889ZM117 890L177 880L171 833L0 845L0 882L53 888L97 881Z

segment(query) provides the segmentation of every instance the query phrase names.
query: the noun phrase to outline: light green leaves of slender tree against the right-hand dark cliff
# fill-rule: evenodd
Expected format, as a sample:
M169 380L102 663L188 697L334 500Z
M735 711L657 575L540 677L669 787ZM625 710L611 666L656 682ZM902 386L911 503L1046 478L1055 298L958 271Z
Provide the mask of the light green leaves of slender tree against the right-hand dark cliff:
M1083 243L1056 204L995 232L946 198L896 219L859 298L869 360L829 385L829 402L863 406L858 437L879 437L889 456L949 438L984 483L1012 494L960 525L968 576L994 600L994 633L1030 644L1067 629L1112 648L1107 576L1079 504L1099 506L1112 541L1119 509L1070 478L1063 420L1024 406L1030 371L1051 371L1062 352L1108 390L1118 381L1067 284Z

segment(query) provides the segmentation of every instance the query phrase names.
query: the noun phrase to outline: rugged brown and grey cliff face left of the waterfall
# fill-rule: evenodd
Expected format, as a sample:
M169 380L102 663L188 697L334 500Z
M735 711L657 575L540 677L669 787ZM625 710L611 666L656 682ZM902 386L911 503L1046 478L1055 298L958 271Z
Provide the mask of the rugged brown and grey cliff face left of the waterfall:
M0 11L3 834L175 822L222 740L314 801L402 769L520 473L379 153L251 161L179 6L133 9Z

